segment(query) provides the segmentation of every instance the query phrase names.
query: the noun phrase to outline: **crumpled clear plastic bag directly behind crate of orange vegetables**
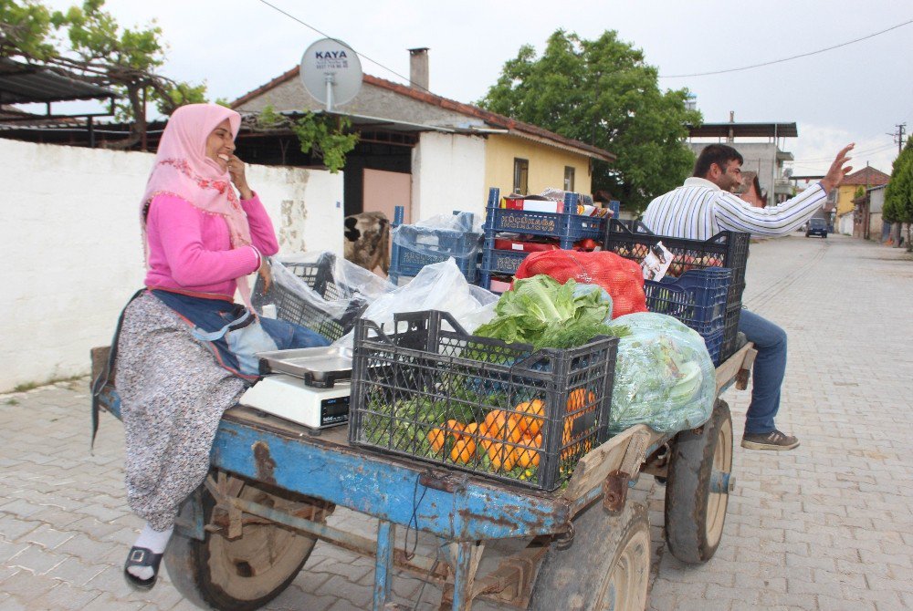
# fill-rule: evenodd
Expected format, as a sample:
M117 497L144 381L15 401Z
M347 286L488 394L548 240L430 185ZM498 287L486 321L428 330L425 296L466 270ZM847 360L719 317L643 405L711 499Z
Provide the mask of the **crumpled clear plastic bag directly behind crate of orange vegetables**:
M379 296L362 312L362 317L379 326L393 328L394 315L402 312L441 310L456 319L467 333L494 316L498 295L467 283L453 259L425 265L422 271L392 293ZM352 334L336 342L352 346Z

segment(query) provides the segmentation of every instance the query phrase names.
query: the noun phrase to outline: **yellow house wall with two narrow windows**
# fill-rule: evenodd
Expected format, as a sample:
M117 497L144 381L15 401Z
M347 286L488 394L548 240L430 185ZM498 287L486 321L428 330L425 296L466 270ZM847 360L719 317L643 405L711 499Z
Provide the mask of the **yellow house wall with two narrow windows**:
M513 190L515 158L530 161L528 194L541 193L547 187L563 189L565 166L574 169L575 192L589 193L592 190L589 158L515 136L491 135L486 149L486 198L489 187L498 187L502 196Z

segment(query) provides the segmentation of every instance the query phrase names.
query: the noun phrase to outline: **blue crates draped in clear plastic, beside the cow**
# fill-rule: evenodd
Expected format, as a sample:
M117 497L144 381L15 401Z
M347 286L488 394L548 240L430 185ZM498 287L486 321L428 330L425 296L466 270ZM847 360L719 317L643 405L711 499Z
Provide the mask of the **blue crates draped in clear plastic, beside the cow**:
M454 214L460 212L454 211ZM390 252L390 282L399 284L401 277L414 277L425 265L446 261L450 257L466 277L467 282L475 284L478 267L478 245L482 234L472 232L472 214L460 217L462 227L459 230L429 229L416 225L404 225L403 206L394 208L394 224L400 243L394 241ZM430 240L431 243L425 244ZM429 253L428 251L434 251ZM437 254L439 253L439 254Z

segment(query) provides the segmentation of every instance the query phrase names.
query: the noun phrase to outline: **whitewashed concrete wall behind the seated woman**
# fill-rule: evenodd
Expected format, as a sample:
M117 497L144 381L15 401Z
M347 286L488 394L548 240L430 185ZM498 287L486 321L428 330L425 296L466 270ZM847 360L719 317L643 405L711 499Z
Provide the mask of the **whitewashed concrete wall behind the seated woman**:
M145 275L139 200L150 153L0 139L5 168L0 392L89 371ZM342 252L342 175L251 166L282 252Z

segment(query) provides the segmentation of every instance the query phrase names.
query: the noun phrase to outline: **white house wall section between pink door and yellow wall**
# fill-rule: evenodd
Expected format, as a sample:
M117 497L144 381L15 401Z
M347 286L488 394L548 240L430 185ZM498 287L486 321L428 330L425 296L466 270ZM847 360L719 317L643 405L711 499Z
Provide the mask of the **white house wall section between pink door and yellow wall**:
M412 219L455 210L485 218L485 139L423 132L412 156Z

